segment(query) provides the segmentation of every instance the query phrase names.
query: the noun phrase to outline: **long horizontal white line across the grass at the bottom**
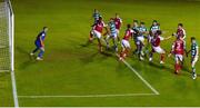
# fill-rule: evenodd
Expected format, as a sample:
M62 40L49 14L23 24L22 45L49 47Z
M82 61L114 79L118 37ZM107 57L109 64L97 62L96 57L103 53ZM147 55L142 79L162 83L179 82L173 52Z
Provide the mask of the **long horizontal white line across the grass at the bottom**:
M19 96L19 98L107 98L107 97L133 97L133 96L153 96L156 94L122 94L122 95L80 95L80 96Z

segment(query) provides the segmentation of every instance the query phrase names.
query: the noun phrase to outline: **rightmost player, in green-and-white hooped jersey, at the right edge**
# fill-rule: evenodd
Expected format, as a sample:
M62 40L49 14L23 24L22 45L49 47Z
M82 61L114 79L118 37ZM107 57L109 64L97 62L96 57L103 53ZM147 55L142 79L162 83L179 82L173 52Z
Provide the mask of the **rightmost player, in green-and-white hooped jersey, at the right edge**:
M191 37L191 49L188 51L188 53L189 52L191 52L192 78L196 79L197 78L196 62L198 61L199 58L199 46L194 37Z

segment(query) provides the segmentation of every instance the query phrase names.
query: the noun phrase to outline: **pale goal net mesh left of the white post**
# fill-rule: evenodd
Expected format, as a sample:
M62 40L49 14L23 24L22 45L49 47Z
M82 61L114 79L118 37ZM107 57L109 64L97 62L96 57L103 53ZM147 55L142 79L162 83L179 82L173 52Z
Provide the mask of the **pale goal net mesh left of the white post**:
M6 2L0 2L0 71L10 70L9 14Z

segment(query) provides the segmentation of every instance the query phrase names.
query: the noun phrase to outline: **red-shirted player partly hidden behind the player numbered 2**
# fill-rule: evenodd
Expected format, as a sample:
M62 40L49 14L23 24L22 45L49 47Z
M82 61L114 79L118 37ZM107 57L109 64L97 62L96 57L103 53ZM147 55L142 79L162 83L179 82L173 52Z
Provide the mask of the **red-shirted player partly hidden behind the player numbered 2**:
M177 32L173 33L172 36L176 36L177 38L180 38L182 40L186 39L186 30L183 29L182 23L178 23Z

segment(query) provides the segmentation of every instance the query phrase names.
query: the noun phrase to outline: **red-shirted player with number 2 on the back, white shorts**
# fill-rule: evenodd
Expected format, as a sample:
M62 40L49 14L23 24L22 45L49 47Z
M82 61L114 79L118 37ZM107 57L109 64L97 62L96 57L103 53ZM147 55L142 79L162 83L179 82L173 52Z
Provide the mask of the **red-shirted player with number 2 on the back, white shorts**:
M178 37L177 40L172 45L171 53L174 55L176 65L174 65L174 73L180 73L183 63L183 55L186 50L186 42L181 37ZM169 55L169 57L171 56Z

